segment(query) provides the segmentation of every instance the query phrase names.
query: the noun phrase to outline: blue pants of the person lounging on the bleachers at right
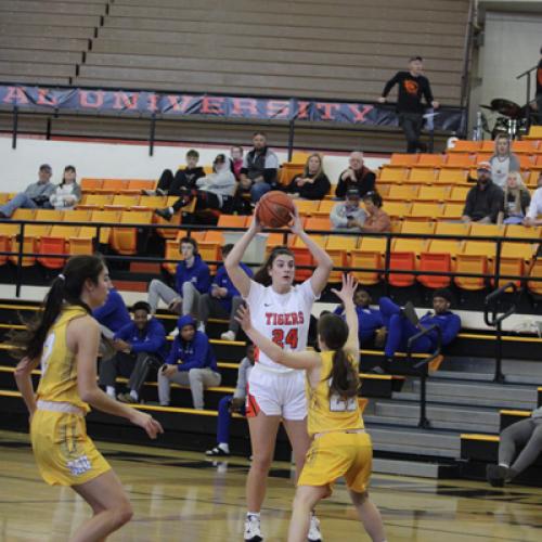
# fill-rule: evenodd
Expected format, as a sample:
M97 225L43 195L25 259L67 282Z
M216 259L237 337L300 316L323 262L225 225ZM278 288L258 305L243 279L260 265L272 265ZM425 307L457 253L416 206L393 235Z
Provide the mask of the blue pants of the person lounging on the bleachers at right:
M384 326L388 330L384 354L392 358L398 350L406 351L409 339L420 333L420 330L401 314L401 308L389 297L380 297L379 305ZM433 348L433 340L427 335L412 345L413 352L429 352Z

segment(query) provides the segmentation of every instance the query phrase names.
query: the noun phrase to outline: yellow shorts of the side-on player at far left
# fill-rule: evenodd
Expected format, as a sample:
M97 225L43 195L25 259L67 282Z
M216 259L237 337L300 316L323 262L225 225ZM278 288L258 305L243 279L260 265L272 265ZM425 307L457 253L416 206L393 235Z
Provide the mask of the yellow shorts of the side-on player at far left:
M39 472L52 486L79 486L111 469L87 436L83 416L37 410L30 440Z

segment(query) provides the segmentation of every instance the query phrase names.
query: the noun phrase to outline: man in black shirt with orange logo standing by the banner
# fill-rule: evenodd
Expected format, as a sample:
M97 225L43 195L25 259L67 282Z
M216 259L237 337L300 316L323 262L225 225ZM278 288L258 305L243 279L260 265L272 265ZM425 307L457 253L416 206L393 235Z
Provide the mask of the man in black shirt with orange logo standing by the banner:
M439 103L433 98L429 79L422 75L424 65L422 56L413 56L409 61L409 72L398 72L384 87L378 102L386 103L386 96L396 86L399 86L397 95L397 113L399 114L399 125L406 138L406 152L425 153L427 145L420 141L422 127L424 126L424 105L422 98L425 98L428 105L438 108Z

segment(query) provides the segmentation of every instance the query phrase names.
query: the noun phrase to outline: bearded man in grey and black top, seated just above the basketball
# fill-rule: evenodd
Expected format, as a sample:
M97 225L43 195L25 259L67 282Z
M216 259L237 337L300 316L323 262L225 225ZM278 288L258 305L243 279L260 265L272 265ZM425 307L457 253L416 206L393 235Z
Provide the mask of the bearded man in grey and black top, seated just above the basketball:
M263 132L253 137L254 149L245 154L240 173L240 189L249 192L254 203L276 185L279 158L268 147Z

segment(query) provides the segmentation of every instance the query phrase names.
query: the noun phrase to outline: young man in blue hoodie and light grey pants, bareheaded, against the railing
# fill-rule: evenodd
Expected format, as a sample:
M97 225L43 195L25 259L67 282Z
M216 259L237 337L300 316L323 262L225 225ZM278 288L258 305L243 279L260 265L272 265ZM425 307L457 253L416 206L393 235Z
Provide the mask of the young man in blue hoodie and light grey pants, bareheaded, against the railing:
M179 242L179 251L182 261L177 266L175 289L156 279L149 285L149 305L153 314L156 313L160 299L171 312L193 314L198 309L199 296L209 289L209 267L197 254L195 240L182 237Z

